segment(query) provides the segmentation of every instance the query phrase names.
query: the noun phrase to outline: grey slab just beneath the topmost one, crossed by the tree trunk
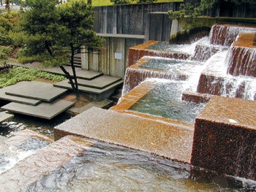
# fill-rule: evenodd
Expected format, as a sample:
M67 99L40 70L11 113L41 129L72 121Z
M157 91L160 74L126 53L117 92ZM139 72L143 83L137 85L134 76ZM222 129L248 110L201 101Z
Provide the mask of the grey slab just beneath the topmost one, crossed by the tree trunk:
M116 91L116 88L121 86L123 83L124 83L124 80L118 80L117 82L114 82L113 84L108 85L107 87L102 89L79 86L79 91L86 93L86 95L93 100L102 101L104 99L108 99ZM57 82L53 84L53 86L72 90L72 87L69 84L69 80Z

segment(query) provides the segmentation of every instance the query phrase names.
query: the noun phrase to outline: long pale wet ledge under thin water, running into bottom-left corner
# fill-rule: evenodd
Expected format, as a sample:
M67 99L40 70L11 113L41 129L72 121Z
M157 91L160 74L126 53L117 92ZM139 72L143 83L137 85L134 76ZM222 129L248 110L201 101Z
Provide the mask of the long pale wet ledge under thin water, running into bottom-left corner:
M51 143L0 174L1 191L26 191L29 185L59 168L90 145L93 143L74 136L63 137Z

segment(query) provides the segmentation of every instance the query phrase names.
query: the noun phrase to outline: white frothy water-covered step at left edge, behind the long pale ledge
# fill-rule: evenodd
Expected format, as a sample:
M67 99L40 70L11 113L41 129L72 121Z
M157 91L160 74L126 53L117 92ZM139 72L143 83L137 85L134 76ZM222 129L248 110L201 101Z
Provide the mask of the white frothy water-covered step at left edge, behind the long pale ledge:
M4 137L0 142L0 174L52 142L53 139L29 129L18 131L10 138Z

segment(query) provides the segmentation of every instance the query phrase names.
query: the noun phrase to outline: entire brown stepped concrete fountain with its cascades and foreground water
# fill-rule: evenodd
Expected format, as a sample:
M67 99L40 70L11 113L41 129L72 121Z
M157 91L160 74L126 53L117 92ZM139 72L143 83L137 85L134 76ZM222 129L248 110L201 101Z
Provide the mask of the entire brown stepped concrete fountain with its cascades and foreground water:
M228 38L220 36L219 30ZM227 31L232 31L232 38ZM196 53L181 51L182 46L176 46L175 50L173 47L154 50L161 44L168 45L153 41L131 47L123 96L118 104L110 110L92 107L56 126L55 142L48 141L48 147L0 174L1 188L4 191L103 191L106 188L113 191L231 191L234 188L254 191L255 31L253 27L244 30L230 24L216 25L210 38L193 44ZM221 40L215 40L217 37L222 37L222 41L236 40L220 43ZM251 39L250 43L247 40L246 44L242 43L243 38ZM236 48L233 50L233 47ZM230 49L236 59L231 57L226 61L226 55L232 52ZM246 72L241 70L243 67L236 70L233 67L240 59L246 65L248 59L241 58L244 50L253 53ZM210 55L200 56L202 53ZM227 63L229 67L223 72L224 68L219 66ZM157 64L157 69L151 69L151 64ZM211 80L209 74L214 72L217 75L212 75ZM230 81L241 82L236 80L241 77L237 72L245 76L246 81L238 83L239 88L233 88L236 91L230 91L225 80L228 76L233 78ZM217 91L211 91L211 85ZM138 110L139 103L149 107L156 103L158 108L154 112L167 108L173 111L166 112L167 117L151 114L150 110ZM176 114L182 112L186 116L191 111L194 114L189 120ZM27 131L23 134L31 135ZM107 159L110 164L105 163ZM29 174L29 170L33 170L33 174ZM210 183L216 183L200 185L203 174ZM170 183L170 180L174 181ZM225 185L220 186L217 180ZM230 180L235 182L230 184Z

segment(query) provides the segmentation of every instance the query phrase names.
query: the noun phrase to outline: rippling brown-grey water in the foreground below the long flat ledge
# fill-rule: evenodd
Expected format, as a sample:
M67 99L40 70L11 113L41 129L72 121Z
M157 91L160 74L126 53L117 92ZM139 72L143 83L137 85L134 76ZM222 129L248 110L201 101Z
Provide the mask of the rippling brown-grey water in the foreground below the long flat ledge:
M27 191L237 191L217 176L192 174L187 164L96 143Z

